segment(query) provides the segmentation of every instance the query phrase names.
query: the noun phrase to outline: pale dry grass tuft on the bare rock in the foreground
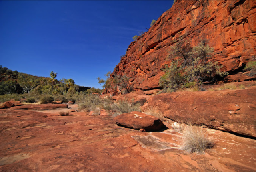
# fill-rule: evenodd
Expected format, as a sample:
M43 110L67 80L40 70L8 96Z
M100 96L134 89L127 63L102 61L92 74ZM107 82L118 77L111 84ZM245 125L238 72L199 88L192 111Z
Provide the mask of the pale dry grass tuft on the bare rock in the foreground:
M198 153L204 154L204 151L208 148L212 148L214 143L208 138L208 135L196 126L188 125L183 130L182 134L182 146L180 150L184 150L186 153Z

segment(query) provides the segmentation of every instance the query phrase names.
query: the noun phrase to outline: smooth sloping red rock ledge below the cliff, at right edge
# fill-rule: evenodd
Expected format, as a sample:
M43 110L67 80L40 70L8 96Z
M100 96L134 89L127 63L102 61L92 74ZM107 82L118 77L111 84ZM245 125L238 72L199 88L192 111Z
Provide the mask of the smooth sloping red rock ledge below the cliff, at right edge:
M162 93L142 109L160 107L177 122L197 122L210 128L256 138L256 86L250 89Z

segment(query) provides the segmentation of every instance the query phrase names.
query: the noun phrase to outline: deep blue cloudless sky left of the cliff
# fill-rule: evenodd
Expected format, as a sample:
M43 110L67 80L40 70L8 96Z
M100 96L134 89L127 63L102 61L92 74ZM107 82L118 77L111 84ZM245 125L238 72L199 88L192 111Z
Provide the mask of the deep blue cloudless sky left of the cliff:
M173 1L1 1L3 67L101 88L139 31Z

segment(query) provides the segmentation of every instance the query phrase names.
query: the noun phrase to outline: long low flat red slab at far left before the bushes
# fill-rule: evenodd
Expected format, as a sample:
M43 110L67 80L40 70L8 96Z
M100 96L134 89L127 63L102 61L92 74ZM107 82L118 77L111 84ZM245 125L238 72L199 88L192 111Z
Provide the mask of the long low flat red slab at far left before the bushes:
M56 109L56 108L68 108L68 105L64 104L42 104L42 105L23 105L23 106L15 106L11 107L11 109L28 109L28 110L48 110L48 109Z

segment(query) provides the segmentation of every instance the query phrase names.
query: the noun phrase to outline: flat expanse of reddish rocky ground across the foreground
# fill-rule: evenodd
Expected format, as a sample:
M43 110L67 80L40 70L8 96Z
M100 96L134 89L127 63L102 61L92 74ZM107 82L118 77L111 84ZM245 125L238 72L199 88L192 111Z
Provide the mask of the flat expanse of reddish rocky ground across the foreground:
M255 93L254 87L244 90ZM151 95L145 105L160 95ZM203 128L214 147L186 154L178 149L182 133L166 121L169 128L142 132L116 125L110 115L62 106L1 109L1 171L256 171L253 137ZM70 115L60 116L60 111ZM255 125L255 115L250 120Z

